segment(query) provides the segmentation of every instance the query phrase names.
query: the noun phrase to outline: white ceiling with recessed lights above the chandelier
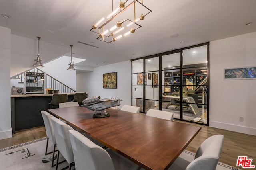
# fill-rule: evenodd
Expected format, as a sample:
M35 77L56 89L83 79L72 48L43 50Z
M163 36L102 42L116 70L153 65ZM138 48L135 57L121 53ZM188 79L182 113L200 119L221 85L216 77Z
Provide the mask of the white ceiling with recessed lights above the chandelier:
M139 21L142 27L112 43L96 40L97 34L90 31L110 14L112 0L0 0L0 14L11 16L0 16L0 26L10 28L14 35L74 45L73 57L86 59L76 65L87 67L256 31L256 0L144 0L143 4L152 12ZM176 33L178 37L170 37Z

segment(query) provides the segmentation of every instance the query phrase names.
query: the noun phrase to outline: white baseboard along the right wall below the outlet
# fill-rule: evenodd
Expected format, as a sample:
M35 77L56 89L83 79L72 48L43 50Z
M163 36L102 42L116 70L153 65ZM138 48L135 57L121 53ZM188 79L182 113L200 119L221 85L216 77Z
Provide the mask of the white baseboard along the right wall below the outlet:
M252 128L252 127L232 125L232 124L222 123L217 121L209 121L209 126L256 136L256 128Z

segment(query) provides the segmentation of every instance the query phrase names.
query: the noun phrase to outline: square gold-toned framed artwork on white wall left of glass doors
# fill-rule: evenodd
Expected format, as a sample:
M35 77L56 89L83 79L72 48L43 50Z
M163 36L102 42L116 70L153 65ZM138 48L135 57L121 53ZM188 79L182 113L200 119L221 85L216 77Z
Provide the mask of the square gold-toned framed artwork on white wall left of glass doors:
M117 88L117 72L103 74L103 88Z

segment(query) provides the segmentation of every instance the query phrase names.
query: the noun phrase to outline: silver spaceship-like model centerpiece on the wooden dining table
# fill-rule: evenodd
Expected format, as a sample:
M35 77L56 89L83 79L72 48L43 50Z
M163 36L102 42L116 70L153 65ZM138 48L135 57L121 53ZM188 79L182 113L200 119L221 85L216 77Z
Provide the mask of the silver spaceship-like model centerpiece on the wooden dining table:
M92 117L103 118L110 116L106 112L106 109L120 105L119 98L104 98L100 99L100 96L92 96L83 100L83 105L79 107L86 107L90 110L95 111Z

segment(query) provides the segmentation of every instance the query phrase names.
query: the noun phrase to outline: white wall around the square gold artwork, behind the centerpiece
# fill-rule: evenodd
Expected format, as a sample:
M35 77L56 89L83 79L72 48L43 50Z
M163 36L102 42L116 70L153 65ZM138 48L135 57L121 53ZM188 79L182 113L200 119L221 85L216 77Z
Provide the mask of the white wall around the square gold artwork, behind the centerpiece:
M103 88L103 74L117 72L117 89ZM93 72L77 74L77 92L88 92L88 97L100 96L101 98L120 98L123 105L131 105L131 61L124 61L94 68Z

